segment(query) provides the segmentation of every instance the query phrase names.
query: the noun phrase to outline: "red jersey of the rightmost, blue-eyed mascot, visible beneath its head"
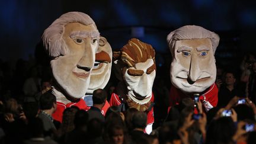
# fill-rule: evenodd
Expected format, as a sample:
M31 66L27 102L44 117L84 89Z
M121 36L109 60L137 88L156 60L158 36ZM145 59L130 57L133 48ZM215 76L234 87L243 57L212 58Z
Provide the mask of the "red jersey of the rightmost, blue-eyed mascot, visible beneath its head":
M211 85L210 88L206 89L206 91L200 94L199 100L203 101L202 104L203 104L203 107L207 109L206 111L209 110L207 108L209 105L211 105L212 107L216 107L217 101L218 101L217 94L218 94L218 89L216 84ZM184 94L180 89L177 89L172 85L170 90L170 95L169 95L169 104L171 107L176 104L179 104L181 100L186 97L190 97L190 96L187 94Z

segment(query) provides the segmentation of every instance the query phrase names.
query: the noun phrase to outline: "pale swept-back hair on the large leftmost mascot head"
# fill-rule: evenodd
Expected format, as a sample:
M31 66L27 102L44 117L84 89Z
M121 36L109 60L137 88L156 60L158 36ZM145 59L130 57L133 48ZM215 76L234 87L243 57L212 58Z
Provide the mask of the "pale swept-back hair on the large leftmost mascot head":
M68 49L66 49L66 43L62 39L63 30L66 24L69 23L81 23L84 25L92 24L97 29L94 21L89 15L82 12L68 12L61 15L57 20L44 30L42 39L44 47L51 57L57 57L60 55L66 55ZM100 37L100 33L93 34Z

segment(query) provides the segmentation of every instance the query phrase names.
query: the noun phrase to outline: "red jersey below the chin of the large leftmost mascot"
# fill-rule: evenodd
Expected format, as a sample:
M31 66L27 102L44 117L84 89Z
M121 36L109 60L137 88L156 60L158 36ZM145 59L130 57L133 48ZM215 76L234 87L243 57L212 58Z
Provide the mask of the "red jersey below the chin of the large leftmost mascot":
M52 114L52 117L54 120L60 121L62 123L62 116L63 116L63 111L68 108L76 106L80 108L81 110L89 110L90 107L85 104L85 101L83 99L79 100L78 103L68 103L68 104L63 104L59 101L57 101L57 109L55 113Z

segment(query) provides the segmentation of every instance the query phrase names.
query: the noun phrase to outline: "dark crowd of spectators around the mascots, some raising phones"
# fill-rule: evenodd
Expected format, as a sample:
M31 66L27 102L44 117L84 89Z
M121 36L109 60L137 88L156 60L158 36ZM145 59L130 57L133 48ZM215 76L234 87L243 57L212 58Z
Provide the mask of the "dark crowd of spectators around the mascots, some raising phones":
M207 113L193 98L168 109L169 79L156 74L155 123L148 135L147 116L135 108L120 112L113 106L105 116L101 114L114 91L114 76L105 90L94 91L90 110L66 108L59 123L51 116L56 97L47 91L52 82L50 66L18 60L13 71L1 62L0 143L256 143L255 56L246 55L238 66L239 73L217 65L219 101Z

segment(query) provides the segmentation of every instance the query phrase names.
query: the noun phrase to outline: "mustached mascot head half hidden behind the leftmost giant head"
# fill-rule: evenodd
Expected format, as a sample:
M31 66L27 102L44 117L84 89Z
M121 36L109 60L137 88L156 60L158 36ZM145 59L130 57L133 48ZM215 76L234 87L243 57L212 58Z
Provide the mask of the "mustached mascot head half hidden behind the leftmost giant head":
M88 94L92 94L95 89L103 89L110 79L112 49L105 37L100 37L98 51L95 56L94 67L91 72Z

